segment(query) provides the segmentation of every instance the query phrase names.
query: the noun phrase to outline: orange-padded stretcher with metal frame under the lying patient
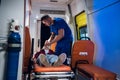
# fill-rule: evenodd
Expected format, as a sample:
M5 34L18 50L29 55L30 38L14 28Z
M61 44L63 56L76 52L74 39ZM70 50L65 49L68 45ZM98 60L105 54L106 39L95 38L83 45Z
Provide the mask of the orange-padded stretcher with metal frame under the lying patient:
M35 58L37 57L34 57L34 59ZM74 73L71 70L71 67L64 64L60 66L45 67L41 65L40 61L39 61L39 64L37 64L37 61L35 61L35 64L33 67L34 67L33 68L34 79L71 80L74 76Z

